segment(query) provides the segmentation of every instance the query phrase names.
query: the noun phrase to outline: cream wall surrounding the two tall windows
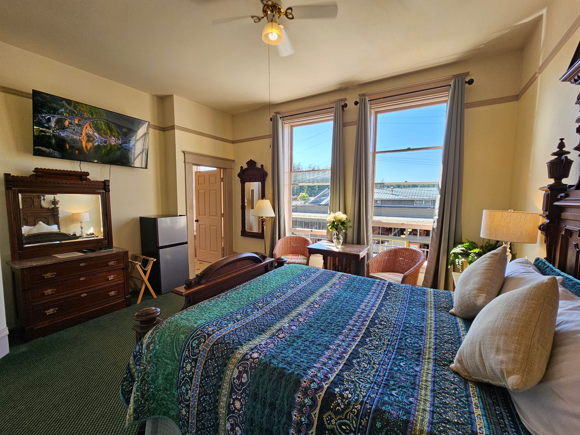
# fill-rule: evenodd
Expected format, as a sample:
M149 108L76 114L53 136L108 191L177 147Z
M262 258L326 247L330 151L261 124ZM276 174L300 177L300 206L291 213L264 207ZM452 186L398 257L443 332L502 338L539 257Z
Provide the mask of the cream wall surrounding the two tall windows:
M358 107L354 102L358 94L371 90L391 88L446 75L469 71L475 84L466 88L466 102L498 97L514 96L520 90L521 63L523 50L512 50L495 56L478 57L443 67L418 71L369 84L353 86L302 99L276 104L272 111L347 98L345 122L356 121ZM234 141L269 133L268 109L262 108L234 115ZM512 168L513 146L517 117L517 102L494 104L492 106L468 108L465 114L465 180L463 190L463 236L477 239L480 233L481 212L485 208L506 208L510 198L510 171ZM491 127L490 127L491 126ZM352 189L354 136L356 126L344 128L346 205L349 212ZM235 167L245 165L253 158L264 164L269 171L271 164L270 139L235 143ZM241 201L239 181L234 180L234 204ZM271 177L266 179L266 198L271 199ZM237 252L262 251L263 242L240 236L240 209L234 207L234 249ZM270 225L266 232L269 238Z

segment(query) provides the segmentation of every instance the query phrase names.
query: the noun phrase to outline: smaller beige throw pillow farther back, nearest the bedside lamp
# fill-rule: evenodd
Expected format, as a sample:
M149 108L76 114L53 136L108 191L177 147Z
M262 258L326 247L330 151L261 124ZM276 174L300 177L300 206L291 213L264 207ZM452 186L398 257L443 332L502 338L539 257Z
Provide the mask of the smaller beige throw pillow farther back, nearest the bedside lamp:
M477 316L499 294L506 265L506 248L501 246L466 267L455 285L453 308L449 313L462 318Z

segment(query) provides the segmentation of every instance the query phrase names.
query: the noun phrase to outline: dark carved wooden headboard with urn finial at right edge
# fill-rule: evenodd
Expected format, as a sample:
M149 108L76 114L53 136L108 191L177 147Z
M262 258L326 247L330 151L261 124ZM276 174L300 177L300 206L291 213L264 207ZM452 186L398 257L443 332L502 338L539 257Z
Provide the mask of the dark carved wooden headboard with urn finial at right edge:
M580 44L560 81L580 85ZM580 94L576 104L580 105ZM580 124L580 116L576 124ZM580 135L580 125L576 132ZM580 142L573 149L580 153ZM576 184L562 182L572 168L568 154L570 151L565 150L564 139L560 139L552 153L554 158L548 162L548 178L554 182L540 189L544 191L541 216L546 220L539 225L539 230L546 240L546 260L574 278L580 278L580 179Z

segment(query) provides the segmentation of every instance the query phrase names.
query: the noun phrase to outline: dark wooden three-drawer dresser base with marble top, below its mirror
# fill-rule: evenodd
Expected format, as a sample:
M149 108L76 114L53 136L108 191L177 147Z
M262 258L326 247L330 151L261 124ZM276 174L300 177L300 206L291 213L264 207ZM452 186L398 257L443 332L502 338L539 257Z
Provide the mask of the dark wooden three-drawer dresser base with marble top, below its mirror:
M27 339L131 305L127 249L72 258L49 255L8 264Z

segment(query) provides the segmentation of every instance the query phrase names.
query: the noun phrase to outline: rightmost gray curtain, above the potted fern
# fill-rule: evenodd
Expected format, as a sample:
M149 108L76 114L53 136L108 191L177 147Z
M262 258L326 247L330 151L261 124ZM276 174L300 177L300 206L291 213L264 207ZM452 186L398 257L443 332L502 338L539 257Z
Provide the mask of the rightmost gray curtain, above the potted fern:
M439 195L435 205L429 259L423 286L451 289L452 269L447 268L447 256L461 235L461 195L463 191L463 131L465 124L465 77L451 82L445 136L441 156Z

